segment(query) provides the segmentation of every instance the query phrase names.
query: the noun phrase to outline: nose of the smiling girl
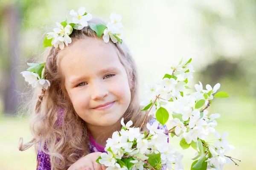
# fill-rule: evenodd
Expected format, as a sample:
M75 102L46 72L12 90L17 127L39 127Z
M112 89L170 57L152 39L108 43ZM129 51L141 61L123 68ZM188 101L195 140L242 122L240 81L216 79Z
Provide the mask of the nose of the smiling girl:
M93 83L91 99L101 100L104 97L108 96L108 89L105 87L104 83L95 82Z

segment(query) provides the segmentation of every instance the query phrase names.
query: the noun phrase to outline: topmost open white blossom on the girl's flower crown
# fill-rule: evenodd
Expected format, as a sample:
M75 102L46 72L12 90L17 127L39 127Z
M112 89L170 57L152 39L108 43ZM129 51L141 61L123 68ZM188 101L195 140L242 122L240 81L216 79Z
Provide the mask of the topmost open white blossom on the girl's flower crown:
M70 15L73 16L72 23L76 24L73 28L81 30L84 27L88 26L87 21L91 20L93 16L89 13L85 14L85 8L81 7L75 12L73 9L70 11Z

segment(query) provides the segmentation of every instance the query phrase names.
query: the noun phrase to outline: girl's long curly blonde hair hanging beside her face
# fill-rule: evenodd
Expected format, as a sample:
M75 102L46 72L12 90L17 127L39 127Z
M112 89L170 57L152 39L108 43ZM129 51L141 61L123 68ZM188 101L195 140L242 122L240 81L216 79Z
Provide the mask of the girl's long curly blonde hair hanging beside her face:
M93 18L88 23L99 24L104 22L99 18ZM73 30L70 37L72 38L70 45L87 37L99 39L95 31L89 27L82 30ZM102 38L99 40L103 41ZM137 67L125 43L122 43L122 45L114 43L114 46L122 65L125 67L131 88L131 102L124 113L124 122L132 120L135 127L140 127L145 114L140 111L141 107L138 102ZM21 151L35 145L37 152L38 149L41 149L44 153L49 154L52 170L65 170L78 159L90 153L86 124L76 114L64 88L64 83L62 83L64 78L61 76L58 65L59 51L59 48L52 47L47 56L44 75L45 79L51 82L51 86L47 91L42 89L33 107L35 109L30 116L30 130L33 139L23 144L23 139L20 138L19 143L19 150ZM60 112L62 112L64 126L59 125ZM149 119L148 117L146 122ZM143 129L145 129L145 126Z

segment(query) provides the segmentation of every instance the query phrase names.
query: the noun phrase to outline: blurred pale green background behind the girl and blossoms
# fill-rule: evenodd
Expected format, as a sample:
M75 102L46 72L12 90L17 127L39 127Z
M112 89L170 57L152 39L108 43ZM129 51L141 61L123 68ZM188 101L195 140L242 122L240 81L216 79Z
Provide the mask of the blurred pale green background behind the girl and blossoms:
M31 139L27 116L17 116L27 96L20 72L26 61L42 57L45 33L55 22L81 6L104 20L112 11L122 15L141 91L182 57L193 59L190 85L220 82L230 97L214 100L209 111L221 114L216 129L229 132L236 147L229 156L241 160L224 170L256 169L255 0L0 0L0 170L36 168L34 150L17 149L19 137ZM170 144L183 153L189 170L195 151L181 150L178 139Z

